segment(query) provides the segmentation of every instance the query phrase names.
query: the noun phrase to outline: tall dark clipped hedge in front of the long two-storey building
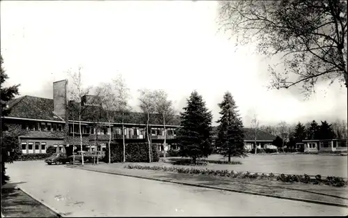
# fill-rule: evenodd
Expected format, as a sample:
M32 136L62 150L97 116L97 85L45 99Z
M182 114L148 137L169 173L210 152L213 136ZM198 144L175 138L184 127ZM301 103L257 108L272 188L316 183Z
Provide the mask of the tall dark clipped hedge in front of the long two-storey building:
M122 143L111 143L111 163L122 162ZM157 146L152 144L152 162L159 161ZM127 143L125 150L126 162L149 162L148 143ZM106 146L104 162L109 163L109 146Z

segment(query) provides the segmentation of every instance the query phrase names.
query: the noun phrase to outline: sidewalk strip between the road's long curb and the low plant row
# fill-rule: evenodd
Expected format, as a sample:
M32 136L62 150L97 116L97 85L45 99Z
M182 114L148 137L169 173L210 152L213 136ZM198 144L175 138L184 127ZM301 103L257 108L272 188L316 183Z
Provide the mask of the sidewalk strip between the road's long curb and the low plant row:
M139 169L125 169L127 164L115 163L98 165L85 164L84 166L70 165L69 168L99 171L104 173L118 173L127 176L146 177L171 182L186 182L191 185L206 185L225 189L235 189L246 192L269 194L275 197L302 198L310 201L324 201L338 203L348 207L348 187L329 187L326 185L311 185L303 183L285 183L270 180L251 180L248 178L228 178L188 173L174 173L166 171L152 171ZM146 163L134 163L146 165ZM159 166L172 166L163 162L153 163Z

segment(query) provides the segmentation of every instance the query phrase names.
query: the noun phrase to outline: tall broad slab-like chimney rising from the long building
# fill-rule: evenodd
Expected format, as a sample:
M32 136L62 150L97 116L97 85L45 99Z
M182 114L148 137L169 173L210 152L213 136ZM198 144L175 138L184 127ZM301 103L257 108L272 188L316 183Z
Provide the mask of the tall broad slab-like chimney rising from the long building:
M67 100L68 100L68 79L61 81L55 81L53 83L53 108L56 116L63 118L67 113Z

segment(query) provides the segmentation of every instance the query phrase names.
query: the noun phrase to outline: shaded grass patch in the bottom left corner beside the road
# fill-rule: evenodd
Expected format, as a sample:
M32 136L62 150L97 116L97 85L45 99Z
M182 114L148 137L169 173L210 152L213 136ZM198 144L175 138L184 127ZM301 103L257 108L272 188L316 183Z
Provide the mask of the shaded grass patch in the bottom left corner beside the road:
M15 187L1 189L1 212L5 217L58 217L42 203Z

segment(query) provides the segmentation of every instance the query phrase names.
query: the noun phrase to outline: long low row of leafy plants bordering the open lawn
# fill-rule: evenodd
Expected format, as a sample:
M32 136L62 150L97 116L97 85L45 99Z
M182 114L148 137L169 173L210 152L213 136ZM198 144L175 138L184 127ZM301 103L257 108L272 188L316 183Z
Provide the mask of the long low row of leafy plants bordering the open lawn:
M313 183L313 184L325 184L334 187L342 187L347 185L347 181L343 178L328 176L325 180L322 180L322 176L317 175L315 179L311 179L307 174L301 175L286 175L280 174L275 176L274 173L250 173L250 172L235 172L228 170L214 170L214 169L196 169L196 168L178 168L178 167L166 167L166 166L141 166L137 164L128 164L125 166L127 169L146 169L155 171L170 171L177 173L191 173L191 174L201 174L201 175L212 175L212 176L226 176L230 178L251 178L251 179L268 179L268 180L278 180L281 182L303 182L303 183Z

